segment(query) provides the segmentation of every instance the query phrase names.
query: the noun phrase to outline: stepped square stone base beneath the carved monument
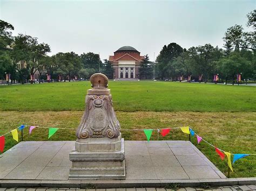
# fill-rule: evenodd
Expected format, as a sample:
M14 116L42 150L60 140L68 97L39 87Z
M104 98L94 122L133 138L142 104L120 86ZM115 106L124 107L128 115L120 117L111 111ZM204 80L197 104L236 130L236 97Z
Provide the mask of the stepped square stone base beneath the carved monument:
M69 154L69 179L125 179L124 139L120 137L114 141L100 138L100 143L77 140L76 151Z

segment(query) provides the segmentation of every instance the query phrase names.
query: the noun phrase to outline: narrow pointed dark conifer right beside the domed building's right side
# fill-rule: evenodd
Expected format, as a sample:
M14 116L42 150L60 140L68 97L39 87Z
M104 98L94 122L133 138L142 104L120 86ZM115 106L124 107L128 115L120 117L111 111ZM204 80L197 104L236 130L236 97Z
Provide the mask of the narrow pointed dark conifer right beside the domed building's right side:
M140 79L147 80L147 79L152 79L152 75L153 75L152 62L149 60L149 56L146 54L139 68L139 77Z

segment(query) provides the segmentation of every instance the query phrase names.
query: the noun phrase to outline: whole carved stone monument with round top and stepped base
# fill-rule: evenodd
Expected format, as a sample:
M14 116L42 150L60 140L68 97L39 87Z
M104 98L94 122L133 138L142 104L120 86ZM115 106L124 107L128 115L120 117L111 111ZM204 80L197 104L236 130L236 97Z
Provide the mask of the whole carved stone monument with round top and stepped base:
M125 179L124 139L104 74L93 74L76 136L69 179Z

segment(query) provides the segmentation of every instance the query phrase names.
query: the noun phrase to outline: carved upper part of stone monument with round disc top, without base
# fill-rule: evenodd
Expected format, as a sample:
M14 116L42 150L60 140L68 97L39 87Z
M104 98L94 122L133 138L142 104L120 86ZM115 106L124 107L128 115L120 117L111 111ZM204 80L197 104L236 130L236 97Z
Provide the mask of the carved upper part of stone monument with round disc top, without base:
M116 138L120 135L120 124L114 113L112 95L107 89L108 79L104 74L91 76L92 89L88 90L86 109L76 136L84 138Z

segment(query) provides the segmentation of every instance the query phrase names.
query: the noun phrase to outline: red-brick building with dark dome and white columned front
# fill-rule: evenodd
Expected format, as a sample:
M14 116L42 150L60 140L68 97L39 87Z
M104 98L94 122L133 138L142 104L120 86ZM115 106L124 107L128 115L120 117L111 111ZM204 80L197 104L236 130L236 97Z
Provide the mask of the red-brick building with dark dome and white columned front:
M144 56L141 56L137 49L131 46L120 47L113 56L109 56L114 68L113 79L138 79L143 59Z

